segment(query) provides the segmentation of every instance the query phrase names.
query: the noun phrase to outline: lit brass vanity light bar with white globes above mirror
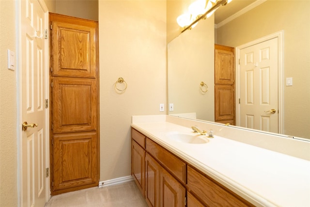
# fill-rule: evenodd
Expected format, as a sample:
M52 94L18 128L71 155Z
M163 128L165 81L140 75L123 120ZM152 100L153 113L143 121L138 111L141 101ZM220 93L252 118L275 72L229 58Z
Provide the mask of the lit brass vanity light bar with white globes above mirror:
M181 33L194 28L198 21L210 17L219 6L232 0L197 0L188 7L188 13L178 16L177 23L183 28Z

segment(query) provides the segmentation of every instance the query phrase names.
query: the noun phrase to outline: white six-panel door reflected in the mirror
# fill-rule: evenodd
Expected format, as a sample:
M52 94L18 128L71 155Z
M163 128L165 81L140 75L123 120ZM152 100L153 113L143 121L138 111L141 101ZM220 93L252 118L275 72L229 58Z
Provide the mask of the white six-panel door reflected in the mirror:
M240 50L240 126L278 133L278 38Z

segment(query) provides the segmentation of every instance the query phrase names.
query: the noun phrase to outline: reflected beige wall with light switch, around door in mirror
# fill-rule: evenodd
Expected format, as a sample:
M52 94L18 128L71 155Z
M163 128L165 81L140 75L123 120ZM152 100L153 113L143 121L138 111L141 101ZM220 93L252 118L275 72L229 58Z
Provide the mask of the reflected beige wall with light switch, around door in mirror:
M237 47L284 31L284 133L310 138L310 1L268 0L217 29L217 43Z

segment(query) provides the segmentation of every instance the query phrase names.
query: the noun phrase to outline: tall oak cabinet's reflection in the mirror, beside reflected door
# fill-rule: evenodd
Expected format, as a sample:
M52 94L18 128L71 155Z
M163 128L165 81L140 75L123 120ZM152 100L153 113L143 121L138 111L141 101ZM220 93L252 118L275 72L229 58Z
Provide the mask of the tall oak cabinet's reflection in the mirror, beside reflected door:
M215 122L235 125L234 48L215 45Z

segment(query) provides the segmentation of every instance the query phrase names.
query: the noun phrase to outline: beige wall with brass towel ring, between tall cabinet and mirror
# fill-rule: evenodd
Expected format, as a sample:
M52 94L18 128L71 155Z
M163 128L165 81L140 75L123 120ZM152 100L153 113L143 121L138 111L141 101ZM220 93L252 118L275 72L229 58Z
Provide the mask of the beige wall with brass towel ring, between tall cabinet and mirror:
M130 175L132 115L166 114L166 1L100 0L100 180ZM113 85L122 77L123 94Z

